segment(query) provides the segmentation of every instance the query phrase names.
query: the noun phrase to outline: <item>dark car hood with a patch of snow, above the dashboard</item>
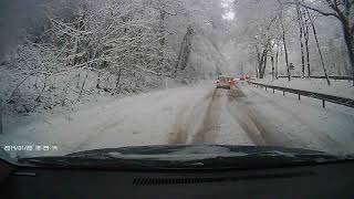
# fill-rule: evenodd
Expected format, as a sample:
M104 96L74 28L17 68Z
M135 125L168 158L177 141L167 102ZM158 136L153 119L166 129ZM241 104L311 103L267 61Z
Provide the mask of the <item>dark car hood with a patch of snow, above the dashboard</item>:
M69 154L21 158L20 163L49 167L115 169L250 169L293 167L339 161L323 151L232 145L159 145L103 148Z

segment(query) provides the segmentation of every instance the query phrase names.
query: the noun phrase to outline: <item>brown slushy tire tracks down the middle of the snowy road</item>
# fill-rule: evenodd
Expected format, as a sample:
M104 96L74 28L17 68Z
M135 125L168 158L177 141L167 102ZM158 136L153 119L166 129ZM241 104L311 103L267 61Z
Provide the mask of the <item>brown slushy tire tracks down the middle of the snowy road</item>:
M223 101L222 97L227 100ZM197 108L208 103L206 111L198 113ZM225 106L226 108L223 108ZM223 109L227 109L230 119L233 119L241 132L254 145L264 146L289 146L291 143L285 135L275 133L275 128L270 124L266 124L264 117L260 115L252 104L247 100L244 93L238 87L231 90L212 90L208 93L200 103L195 107L181 107L176 115L176 123L171 126L171 133L168 135L168 144L186 144L188 137L191 137L191 144L214 144L221 129L220 115ZM192 115L202 117L200 124L195 123ZM190 127L197 127L192 130ZM240 129L235 129L240 132Z

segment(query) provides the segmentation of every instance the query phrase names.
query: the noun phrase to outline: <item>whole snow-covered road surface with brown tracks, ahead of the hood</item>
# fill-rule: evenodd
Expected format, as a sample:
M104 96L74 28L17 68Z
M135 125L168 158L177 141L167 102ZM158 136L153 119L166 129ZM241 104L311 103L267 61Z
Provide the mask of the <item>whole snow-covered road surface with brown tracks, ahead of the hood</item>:
M354 153L354 113L283 97L249 85L211 83L96 103L9 128L1 144L56 145L27 156L137 145L273 145Z

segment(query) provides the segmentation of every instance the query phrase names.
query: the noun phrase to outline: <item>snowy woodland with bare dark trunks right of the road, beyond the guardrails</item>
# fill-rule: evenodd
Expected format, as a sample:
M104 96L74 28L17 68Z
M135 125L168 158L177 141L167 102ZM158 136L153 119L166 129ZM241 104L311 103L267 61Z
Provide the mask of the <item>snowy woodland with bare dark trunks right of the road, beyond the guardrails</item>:
M233 60L266 75L353 75L353 0L233 1ZM230 46L229 46L230 48ZM244 52L246 51L246 52ZM330 85L330 80L327 80Z

